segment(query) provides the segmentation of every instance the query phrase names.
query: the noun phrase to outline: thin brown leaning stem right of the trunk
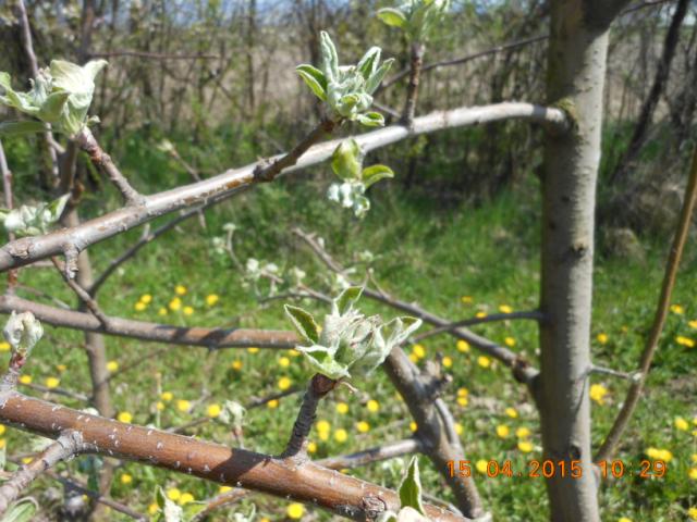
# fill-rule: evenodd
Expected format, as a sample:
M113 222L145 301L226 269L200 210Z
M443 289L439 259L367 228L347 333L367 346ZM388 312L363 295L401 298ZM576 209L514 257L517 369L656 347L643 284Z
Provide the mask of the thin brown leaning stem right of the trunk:
M673 245L668 254L668 261L665 263L665 274L663 275L663 283L661 285L661 293L658 299L658 306L656 308L656 315L653 316L653 324L646 339L644 351L641 352L641 359L639 360L637 378L633 381L627 390L627 396L622 403L622 409L617 414L614 424L610 428L610 433L606 437L602 446L598 450L595 461L608 460L614 452L622 434L627 427L632 414L636 409L639 398L641 397L641 390L644 389L644 383L648 377L651 370L651 362L653 361L653 355L658 348L658 341L665 324L665 318L671 303L671 295L675 286L675 278L677 277L677 269L680 261L683 257L683 250L685 243L687 241L689 225L692 223L693 211L695 210L695 201L697 200L697 149L693 156L692 169L689 172L689 178L687 186L685 187L685 197L683 200L683 208L680 213L680 221L677 228L675 229L675 236L673 237Z

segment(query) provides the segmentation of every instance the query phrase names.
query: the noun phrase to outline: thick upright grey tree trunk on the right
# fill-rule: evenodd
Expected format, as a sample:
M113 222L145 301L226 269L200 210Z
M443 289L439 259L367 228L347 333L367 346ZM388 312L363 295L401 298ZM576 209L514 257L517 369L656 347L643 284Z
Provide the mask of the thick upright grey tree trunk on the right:
M548 134L542 174L540 310L547 320L540 323L541 373L536 399L543 458L554 462L547 487L555 522L600 520L587 377L609 20L599 21L591 3L552 2L548 50L548 101L566 109L575 121L571 132ZM560 461L566 476L561 476ZM572 461L579 462L582 476L570 476Z

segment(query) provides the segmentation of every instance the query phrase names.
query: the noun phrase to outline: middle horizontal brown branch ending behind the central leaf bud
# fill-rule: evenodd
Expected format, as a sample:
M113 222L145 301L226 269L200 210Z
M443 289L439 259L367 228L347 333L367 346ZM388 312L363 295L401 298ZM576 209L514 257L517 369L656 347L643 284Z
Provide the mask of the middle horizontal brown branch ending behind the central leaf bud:
M250 328L201 328L148 323L106 316L107 326L90 313L63 310L16 296L0 296L0 313L26 310L41 322L84 332L132 337L154 343L220 348L293 348L299 340L293 332Z

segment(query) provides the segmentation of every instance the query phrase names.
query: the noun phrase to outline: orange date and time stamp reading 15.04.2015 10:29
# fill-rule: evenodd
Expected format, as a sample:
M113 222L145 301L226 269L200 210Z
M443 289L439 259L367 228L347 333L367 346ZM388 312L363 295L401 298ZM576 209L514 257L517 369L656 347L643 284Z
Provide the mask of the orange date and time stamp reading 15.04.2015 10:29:
M668 464L662 460L644 459L636 464L623 460L602 460L596 462L596 465L600 476L603 478L621 478L623 476L660 478L665 476L668 472ZM450 476L472 476L473 467L490 478L525 476L530 478L580 478L587 471L583 469L580 460L529 460L525 469L515 469L515 464L510 460L480 460L476 463L469 460L448 461Z

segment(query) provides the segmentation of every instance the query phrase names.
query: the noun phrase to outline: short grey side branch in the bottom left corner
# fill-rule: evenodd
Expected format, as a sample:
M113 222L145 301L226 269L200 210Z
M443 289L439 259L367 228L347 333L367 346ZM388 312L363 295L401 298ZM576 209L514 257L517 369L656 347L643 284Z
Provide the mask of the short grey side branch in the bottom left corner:
M36 477L61 460L66 460L80 453L82 449L83 439L80 433L61 433L54 443L51 443L32 462L21 468L8 482L0 486L0 514L7 511L22 490L32 484Z

